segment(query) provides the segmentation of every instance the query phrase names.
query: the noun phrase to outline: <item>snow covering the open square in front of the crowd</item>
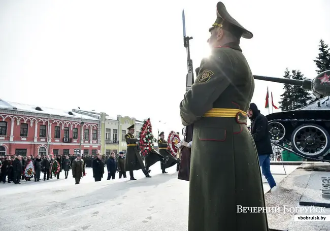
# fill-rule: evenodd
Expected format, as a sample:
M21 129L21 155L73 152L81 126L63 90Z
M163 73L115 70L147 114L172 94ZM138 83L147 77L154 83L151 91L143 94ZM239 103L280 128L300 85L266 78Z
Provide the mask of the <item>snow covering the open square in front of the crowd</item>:
M289 174L297 166L285 166ZM152 178L135 171L135 178L94 182L92 170L79 185L72 173L60 180L0 184L1 231L23 230L187 230L189 182L178 180L176 166L161 174L160 164L151 168ZM283 180L282 166L271 166L276 182ZM43 174L42 174L43 176ZM263 182L267 182L263 178ZM265 193L269 191L263 183Z

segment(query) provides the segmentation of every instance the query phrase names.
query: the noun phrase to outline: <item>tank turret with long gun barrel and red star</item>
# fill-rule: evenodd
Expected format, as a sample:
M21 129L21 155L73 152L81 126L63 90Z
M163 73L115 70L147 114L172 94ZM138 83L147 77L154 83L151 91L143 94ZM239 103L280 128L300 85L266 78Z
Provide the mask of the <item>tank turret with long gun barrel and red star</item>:
M268 76L253 76L257 80L265 80L269 82L291 84L295 86L301 86L305 90L311 90L317 98L322 98L324 96L330 95L330 71L325 71L316 76L314 79L284 79L275 78Z

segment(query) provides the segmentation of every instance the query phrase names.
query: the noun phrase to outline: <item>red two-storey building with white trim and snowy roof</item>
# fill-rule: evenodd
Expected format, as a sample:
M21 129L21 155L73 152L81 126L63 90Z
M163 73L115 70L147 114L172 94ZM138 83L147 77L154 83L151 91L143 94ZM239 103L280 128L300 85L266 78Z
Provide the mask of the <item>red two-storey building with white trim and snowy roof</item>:
M0 155L96 154L100 119L0 99ZM80 139L83 138L83 139Z

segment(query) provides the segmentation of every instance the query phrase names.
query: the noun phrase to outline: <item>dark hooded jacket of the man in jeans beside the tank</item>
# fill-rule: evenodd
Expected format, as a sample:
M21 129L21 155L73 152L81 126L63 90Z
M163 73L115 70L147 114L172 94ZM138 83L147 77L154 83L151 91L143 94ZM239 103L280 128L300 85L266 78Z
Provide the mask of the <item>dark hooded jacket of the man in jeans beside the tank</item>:
M250 104L252 110L251 135L257 148L258 155L272 154L271 137L268 130L268 120L262 115L255 104Z

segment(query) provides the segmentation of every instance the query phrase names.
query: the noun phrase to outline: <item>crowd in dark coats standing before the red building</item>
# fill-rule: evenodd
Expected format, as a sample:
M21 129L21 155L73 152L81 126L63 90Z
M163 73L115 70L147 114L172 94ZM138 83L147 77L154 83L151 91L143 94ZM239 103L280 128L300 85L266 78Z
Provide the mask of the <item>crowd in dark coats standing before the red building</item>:
M31 163L30 163L31 162ZM52 169L56 162L56 168ZM31 167L32 166L32 167ZM57 168L58 166L58 168ZM39 182L41 178L44 181L53 177L60 179L60 173L64 172L64 178L67 179L69 171L72 169L73 177L76 178L76 184L79 184L80 178L85 176L85 167L93 168L93 177L95 181L100 181L104 174L105 166L108 170L107 180L115 179L116 172L119 172L119 178L126 178L125 156L120 152L118 158L115 153L110 155L44 155L44 156L20 156L7 155L0 157L0 180L5 183L20 184L21 180ZM32 169L27 173L27 168ZM43 173L43 176L42 174ZM102 173L102 175L101 175ZM79 180L78 180L79 178Z

